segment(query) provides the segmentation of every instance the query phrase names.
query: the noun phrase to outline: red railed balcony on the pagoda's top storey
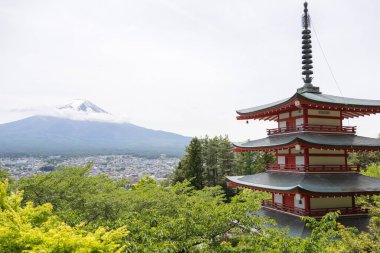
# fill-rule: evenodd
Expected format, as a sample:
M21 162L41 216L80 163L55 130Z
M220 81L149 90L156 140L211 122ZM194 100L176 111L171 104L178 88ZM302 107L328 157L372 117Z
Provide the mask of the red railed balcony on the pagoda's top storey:
M302 124L296 127L279 127L279 128L267 129L268 135L294 133L294 132L355 134L356 126L326 126L326 125Z

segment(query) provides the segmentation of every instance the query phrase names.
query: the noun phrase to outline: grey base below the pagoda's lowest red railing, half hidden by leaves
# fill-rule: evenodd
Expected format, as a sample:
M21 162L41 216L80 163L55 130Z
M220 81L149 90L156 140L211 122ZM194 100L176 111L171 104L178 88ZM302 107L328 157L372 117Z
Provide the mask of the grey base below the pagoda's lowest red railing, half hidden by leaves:
M293 214L279 212L277 210L274 211L266 207L256 211L256 214L264 218L275 220L277 223L276 226L270 225L270 227L276 227L280 230L287 229L291 237L309 237L311 235L312 229L307 227L304 221ZM356 227L360 231L367 232L369 219L369 216L346 216L339 217L338 222L346 227Z

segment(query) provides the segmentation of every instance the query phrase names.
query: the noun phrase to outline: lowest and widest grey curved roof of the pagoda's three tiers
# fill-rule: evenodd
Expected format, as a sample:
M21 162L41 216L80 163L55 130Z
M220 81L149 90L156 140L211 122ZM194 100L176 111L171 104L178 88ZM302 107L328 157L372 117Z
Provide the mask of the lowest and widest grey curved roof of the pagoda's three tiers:
M227 177L236 186L274 192L316 194L380 193L380 179L353 173L308 174L263 172L248 176Z

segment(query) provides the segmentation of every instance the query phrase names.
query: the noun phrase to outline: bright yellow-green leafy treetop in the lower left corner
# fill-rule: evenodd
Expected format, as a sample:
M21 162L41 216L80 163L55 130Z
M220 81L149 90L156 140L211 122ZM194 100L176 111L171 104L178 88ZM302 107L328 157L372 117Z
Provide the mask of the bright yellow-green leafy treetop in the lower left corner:
M7 194L0 182L0 252L124 252L125 227L93 233L70 227L52 215L52 205L21 207L22 192Z

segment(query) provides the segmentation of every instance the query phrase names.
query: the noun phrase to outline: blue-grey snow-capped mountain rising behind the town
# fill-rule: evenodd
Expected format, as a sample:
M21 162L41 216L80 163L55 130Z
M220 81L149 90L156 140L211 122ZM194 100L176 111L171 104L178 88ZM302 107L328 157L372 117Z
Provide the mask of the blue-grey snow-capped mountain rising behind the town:
M0 153L180 156L190 137L120 120L87 100L73 100L50 115L0 124Z

